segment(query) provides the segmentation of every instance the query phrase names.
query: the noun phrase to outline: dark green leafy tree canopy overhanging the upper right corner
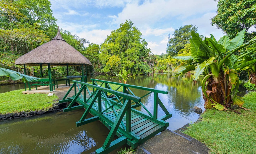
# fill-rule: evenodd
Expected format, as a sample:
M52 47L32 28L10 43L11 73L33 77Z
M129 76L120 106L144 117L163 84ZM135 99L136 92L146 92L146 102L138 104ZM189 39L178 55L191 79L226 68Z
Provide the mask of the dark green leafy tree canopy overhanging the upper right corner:
M244 28L256 28L255 10L255 0L218 0L217 15L212 18L212 26L218 26L230 38L234 38ZM247 32L246 36L248 41L256 36L256 31Z

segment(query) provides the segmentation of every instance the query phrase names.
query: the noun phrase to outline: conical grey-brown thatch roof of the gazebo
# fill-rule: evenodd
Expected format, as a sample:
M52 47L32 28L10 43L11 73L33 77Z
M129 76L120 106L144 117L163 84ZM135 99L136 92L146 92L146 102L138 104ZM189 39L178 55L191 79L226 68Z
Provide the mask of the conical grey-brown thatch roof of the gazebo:
M15 65L38 66L40 63L43 66L47 66L47 63L51 63L51 66L92 65L87 58L61 37L59 26L57 35L51 41L29 51L15 61Z

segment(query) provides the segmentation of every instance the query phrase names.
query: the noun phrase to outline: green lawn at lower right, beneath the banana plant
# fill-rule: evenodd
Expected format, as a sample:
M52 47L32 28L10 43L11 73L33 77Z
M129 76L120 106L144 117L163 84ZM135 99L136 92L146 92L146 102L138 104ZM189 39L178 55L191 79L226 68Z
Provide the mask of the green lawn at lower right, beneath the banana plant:
M194 123L185 134L205 143L215 153L256 153L256 92L244 97L242 114L233 111L207 110L202 121Z

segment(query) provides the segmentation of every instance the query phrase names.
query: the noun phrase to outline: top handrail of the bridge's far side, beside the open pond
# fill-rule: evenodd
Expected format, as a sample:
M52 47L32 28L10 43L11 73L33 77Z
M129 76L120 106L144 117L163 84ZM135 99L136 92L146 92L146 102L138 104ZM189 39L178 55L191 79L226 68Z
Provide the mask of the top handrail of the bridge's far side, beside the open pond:
M154 89L154 88L147 88L147 87L135 86L135 85L130 85L130 84L124 84L124 83L118 83L118 82L112 82L112 81L99 80L99 79L94 79L94 78L91 78L91 80L92 81L104 82L104 83L111 83L111 84L116 84L116 85L119 85L119 86L136 88L136 89L141 89L141 90L146 90L146 91L152 91L152 92L156 92L156 93L168 94L168 91L158 90L158 89Z

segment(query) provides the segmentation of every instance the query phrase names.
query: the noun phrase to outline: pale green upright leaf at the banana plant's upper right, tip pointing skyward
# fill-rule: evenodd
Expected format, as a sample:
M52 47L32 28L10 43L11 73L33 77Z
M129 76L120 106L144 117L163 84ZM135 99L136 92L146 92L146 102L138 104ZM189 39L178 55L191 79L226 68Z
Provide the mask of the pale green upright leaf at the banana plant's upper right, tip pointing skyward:
M245 29L243 29L242 31L236 34L236 37L230 41L230 44L229 46L227 46L227 49L232 50L238 46L241 46L244 43L244 40L245 40Z

